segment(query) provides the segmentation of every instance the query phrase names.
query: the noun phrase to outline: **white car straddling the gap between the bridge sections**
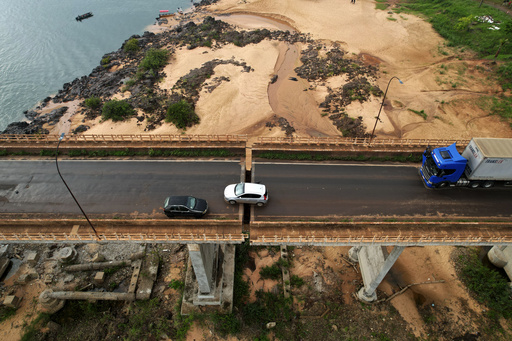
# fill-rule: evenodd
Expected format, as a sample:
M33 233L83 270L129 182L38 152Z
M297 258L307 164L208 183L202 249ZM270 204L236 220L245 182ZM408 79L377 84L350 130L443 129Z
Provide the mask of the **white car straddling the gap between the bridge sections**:
M234 204L254 204L263 206L268 201L267 187L252 182L232 184L224 189L224 200Z

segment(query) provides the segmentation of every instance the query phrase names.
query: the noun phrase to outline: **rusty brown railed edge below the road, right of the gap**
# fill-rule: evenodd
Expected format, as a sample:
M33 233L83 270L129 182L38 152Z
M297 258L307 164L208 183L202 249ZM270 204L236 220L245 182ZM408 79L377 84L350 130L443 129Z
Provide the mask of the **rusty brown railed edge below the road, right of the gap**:
M512 222L255 222L254 245L512 244Z

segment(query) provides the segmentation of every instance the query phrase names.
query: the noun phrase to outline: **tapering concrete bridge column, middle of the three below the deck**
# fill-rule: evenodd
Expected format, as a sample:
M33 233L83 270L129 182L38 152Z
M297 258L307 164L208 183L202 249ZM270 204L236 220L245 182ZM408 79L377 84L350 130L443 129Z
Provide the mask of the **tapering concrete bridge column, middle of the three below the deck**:
M377 287L404 249L405 246L395 246L389 254L385 246L363 246L360 249L357 255L364 283L357 293L360 300L377 300Z

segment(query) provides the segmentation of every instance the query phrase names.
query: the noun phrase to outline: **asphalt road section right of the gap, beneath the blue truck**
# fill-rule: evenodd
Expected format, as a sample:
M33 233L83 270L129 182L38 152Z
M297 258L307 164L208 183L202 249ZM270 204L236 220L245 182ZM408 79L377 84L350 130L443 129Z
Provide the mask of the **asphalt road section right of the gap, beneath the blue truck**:
M256 217L277 216L506 216L512 188L427 189L417 167L349 164L270 164L254 167L268 186Z

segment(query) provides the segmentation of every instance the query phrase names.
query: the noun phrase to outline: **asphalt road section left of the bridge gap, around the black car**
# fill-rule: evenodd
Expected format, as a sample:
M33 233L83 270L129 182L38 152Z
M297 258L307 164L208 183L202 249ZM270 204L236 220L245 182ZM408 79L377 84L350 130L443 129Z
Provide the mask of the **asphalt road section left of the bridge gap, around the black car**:
M61 174L86 214L155 214L165 218L169 195L206 199L211 213L236 214L224 187L240 181L238 162L59 161ZM1 161L0 213L81 214L55 161Z

